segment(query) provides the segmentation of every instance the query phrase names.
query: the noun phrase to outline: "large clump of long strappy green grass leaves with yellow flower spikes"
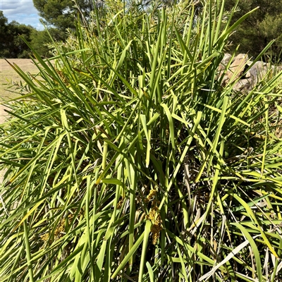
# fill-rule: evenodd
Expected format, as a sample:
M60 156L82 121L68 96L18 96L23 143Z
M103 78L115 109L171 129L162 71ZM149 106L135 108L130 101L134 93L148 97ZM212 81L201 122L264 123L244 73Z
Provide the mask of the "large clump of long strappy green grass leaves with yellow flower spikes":
M28 94L1 125L1 281L281 279L281 73L222 87L248 14L185 3L108 1L34 52L39 75L12 66Z

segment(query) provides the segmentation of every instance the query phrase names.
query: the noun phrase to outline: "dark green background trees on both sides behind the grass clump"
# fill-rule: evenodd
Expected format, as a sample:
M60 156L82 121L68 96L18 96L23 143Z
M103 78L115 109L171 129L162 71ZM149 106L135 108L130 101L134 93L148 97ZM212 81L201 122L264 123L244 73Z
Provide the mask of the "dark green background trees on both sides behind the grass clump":
M73 0L32 0L35 8L42 17L44 24L47 25L49 33L55 40L65 40L66 30L75 30L75 16L78 11L83 13L83 18L91 20L91 13L99 13L99 17L103 18L103 7L106 4L117 4L120 1L103 1L103 0L77 0L76 5ZM221 0L223 1L223 0ZM192 0L124 0L127 11L130 7L140 5L165 5L167 7L174 4L193 5L197 13L202 13L202 1ZM131 5L130 5L131 3ZM257 8L259 6L259 8ZM281 59L282 52L282 0L225 0L226 13L235 8L233 20L235 23L245 13L257 8L255 13L252 13L246 18L243 23L236 27L236 31L231 35L231 44L225 51L235 51L237 53L248 53L249 56L256 57L266 47L269 42L274 40L271 49L264 53L273 61L278 62ZM195 13L195 14L197 14ZM224 19L225 16L223 16ZM189 18L189 15L188 15ZM104 19L106 21L107 19ZM177 19L175 19L177 21ZM101 21L103 22L103 20ZM189 21L188 21L189 22ZM185 23L183 23L185 24ZM22 25L16 21L8 23L2 11L0 11L0 57L6 58L27 58L30 54L30 49L18 35L24 37L27 42L32 44L42 56L50 56L47 43L50 42L50 37L46 30L38 31L30 25ZM264 58L266 59L266 58Z

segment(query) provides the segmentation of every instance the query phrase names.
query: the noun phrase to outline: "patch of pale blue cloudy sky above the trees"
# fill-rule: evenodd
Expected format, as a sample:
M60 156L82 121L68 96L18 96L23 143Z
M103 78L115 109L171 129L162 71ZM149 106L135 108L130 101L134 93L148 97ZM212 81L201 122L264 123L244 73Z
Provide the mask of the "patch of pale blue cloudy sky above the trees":
M18 23L32 25L37 30L43 30L44 27L39 22L38 11L33 6L32 0L2 1L0 0L0 10L8 18L10 23L16 20Z

